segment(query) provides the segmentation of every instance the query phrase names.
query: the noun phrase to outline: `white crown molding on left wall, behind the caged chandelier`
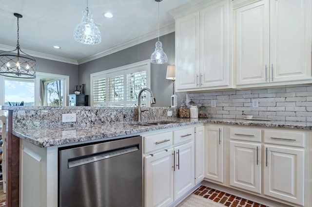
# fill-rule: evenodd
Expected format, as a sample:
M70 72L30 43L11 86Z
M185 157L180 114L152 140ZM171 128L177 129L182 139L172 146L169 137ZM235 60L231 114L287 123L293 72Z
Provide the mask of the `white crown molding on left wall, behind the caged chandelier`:
M13 51L15 49L16 49L16 47L11 47L11 46L0 44L0 50L1 51ZM63 62L63 63L69 63L69 64L73 64L73 65L78 65L77 60L70 59L70 58L60 57L60 56L56 56L56 55L52 55L52 54L46 54L46 53L42 53L42 52L24 50L24 49L23 49L23 52L26 52L27 54L29 54L31 56L35 56L35 57L39 57L39 58L44 58L44 59L48 59L48 60L55 60L55 61L59 61L59 62Z

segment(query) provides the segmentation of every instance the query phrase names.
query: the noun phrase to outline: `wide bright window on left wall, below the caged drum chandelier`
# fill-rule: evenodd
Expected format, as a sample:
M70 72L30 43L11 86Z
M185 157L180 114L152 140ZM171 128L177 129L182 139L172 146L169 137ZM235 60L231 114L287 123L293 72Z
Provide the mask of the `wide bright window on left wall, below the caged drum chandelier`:
M36 72L35 79L0 76L0 105L66 105L69 76ZM0 112L1 113L1 112Z

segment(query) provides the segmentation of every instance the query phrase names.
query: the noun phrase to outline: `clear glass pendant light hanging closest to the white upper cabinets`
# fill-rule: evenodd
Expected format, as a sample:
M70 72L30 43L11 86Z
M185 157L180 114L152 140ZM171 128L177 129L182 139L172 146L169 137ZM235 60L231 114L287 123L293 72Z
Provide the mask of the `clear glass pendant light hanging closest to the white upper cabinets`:
M156 42L156 48L151 55L151 63L154 64L164 64L167 63L168 58L165 52L162 50L162 43L159 41L159 2L162 0L155 0L158 2L158 41Z

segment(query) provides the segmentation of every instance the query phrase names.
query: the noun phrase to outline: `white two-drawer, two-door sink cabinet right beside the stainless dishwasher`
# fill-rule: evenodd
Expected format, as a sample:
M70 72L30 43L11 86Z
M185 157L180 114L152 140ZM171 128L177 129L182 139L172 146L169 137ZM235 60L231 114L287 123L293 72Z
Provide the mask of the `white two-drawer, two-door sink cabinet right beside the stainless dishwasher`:
M195 187L194 134L187 127L143 136L145 146L155 145L144 151L144 206L169 206Z

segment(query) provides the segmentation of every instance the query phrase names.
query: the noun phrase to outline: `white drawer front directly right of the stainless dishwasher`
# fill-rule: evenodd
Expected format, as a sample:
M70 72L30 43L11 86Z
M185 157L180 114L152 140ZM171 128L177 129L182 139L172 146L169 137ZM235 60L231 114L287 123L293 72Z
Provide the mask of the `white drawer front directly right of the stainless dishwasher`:
M171 146L173 143L172 132L159 133L143 137L144 153L151 152L157 149Z

